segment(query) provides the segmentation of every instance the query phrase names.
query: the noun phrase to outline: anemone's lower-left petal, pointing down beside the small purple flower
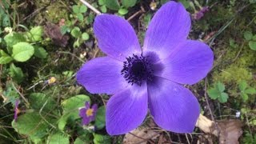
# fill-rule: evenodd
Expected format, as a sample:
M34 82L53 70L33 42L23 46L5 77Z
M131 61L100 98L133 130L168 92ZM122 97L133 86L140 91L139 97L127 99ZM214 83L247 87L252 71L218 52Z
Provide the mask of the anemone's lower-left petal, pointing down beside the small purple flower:
M131 86L111 97L106 104L108 134L126 134L137 128L146 117L147 100L146 84Z

